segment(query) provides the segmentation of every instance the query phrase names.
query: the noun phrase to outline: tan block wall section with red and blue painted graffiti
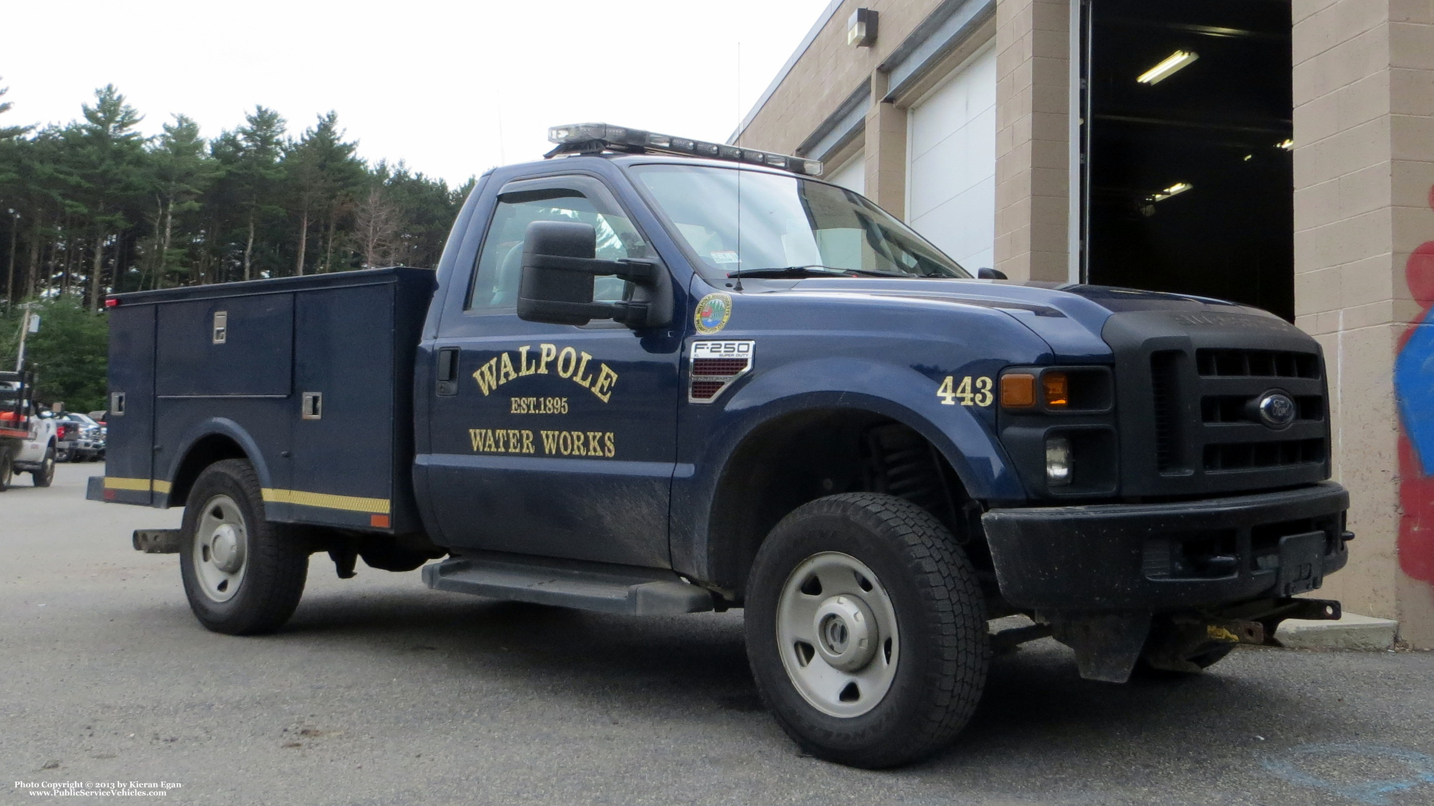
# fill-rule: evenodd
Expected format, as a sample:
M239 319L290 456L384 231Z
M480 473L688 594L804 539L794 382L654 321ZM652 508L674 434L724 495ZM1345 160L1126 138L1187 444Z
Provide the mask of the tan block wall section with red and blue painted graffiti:
M1434 645L1434 0L1295 0L1295 314L1325 347L1349 610ZM1428 423L1428 425L1425 425Z

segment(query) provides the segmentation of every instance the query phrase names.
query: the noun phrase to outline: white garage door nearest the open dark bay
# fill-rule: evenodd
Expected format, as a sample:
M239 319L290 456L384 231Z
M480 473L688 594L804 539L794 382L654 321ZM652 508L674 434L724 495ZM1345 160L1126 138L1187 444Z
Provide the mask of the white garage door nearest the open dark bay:
M972 272L995 252L995 49L911 108L906 222Z

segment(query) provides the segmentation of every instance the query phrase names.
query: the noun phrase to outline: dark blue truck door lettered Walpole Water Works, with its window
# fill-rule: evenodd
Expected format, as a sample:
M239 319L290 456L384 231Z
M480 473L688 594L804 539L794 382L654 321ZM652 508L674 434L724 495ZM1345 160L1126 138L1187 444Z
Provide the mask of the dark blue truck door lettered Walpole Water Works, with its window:
M515 304L533 221L581 221L597 257L655 260L594 176L502 188L459 317L436 338L429 479L445 545L670 566L680 333L531 323ZM598 301L628 284L599 277ZM453 321L456 320L456 321Z

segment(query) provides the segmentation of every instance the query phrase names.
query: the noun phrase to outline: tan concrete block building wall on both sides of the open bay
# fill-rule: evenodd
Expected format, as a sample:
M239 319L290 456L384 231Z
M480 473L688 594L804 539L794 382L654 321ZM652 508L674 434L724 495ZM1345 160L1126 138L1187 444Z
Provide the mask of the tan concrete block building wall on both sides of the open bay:
M952 0L833 3L741 142L797 151L865 82L860 136L832 156L863 153L866 195L905 215L908 108L994 39L995 267L1065 280L1070 1L995 0L901 93L883 65ZM846 44L858 6L880 14L875 47ZM1358 534L1326 591L1434 647L1434 0L1292 0L1291 23L1296 324L1328 357L1335 479Z

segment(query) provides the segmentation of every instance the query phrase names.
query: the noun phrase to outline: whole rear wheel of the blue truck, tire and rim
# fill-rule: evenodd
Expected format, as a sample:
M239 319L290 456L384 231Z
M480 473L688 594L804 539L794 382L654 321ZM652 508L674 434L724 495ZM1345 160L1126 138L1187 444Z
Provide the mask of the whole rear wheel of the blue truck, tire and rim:
M242 459L205 468L189 490L179 535L189 608L215 632L278 630L298 607L308 551L264 519L258 476Z

